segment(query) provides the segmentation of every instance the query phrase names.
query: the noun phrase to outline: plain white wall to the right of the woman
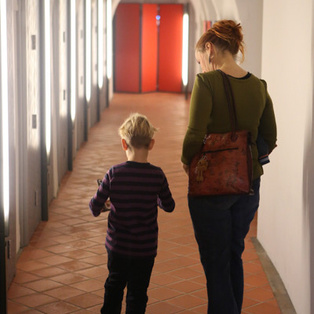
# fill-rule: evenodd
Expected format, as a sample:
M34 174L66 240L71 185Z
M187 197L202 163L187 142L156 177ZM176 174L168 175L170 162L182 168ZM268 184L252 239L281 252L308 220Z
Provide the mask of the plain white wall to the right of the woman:
M262 76L274 102L278 147L262 180L258 239L297 313L310 314L314 313L313 3L264 0L263 15Z

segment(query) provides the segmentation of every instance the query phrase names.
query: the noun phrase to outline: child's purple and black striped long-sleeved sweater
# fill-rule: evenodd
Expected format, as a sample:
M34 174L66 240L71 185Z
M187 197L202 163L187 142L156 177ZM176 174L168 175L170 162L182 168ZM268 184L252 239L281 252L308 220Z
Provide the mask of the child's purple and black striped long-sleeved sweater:
M108 197L111 209L106 248L125 256L156 256L157 206L166 212L175 207L162 169L133 161L113 166L89 203L95 217Z

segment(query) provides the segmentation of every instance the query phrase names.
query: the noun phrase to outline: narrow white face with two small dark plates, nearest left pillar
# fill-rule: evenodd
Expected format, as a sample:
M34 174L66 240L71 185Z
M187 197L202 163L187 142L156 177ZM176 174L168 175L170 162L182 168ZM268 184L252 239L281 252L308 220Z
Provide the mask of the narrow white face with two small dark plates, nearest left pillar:
M41 221L41 154L40 154L40 49L39 49L39 3L37 0L26 2L26 107L27 107L27 191L26 231L24 244L30 240L38 223ZM36 44L32 45L35 36ZM36 126L33 124L36 119ZM26 226L27 224L27 226Z

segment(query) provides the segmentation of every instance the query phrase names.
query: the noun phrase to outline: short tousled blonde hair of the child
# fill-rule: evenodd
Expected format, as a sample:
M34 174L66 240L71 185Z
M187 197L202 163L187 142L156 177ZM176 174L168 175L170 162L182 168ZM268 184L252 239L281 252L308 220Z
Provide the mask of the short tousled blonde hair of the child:
M121 138L135 148L148 148L156 131L147 117L139 113L131 114L119 128Z

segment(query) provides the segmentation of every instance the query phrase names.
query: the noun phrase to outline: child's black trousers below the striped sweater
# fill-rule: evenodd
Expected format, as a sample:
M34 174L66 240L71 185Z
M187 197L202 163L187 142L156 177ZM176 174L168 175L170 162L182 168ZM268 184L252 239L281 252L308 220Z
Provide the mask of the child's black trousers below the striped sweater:
M126 313L145 313L147 288L155 258L132 258L108 251L109 275L105 283L101 313L120 314L123 291L127 286Z

